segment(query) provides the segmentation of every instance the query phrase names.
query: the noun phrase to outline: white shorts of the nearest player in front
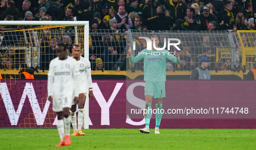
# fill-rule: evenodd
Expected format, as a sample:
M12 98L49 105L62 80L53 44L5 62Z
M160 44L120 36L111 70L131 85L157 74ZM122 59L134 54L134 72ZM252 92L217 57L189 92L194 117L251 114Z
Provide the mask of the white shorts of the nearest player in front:
M63 108L71 108L72 98L71 97L64 97L64 98L55 98L53 96L52 100L52 110L54 112L62 112Z

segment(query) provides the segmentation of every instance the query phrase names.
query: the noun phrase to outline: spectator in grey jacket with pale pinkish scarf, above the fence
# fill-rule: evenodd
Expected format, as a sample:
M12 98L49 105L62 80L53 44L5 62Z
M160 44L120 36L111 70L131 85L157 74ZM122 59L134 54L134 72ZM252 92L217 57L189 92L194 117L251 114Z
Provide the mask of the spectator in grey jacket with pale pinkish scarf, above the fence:
M119 6L118 13L114 18L117 20L118 28L120 29L130 29L133 26L133 22L128 17L124 6Z

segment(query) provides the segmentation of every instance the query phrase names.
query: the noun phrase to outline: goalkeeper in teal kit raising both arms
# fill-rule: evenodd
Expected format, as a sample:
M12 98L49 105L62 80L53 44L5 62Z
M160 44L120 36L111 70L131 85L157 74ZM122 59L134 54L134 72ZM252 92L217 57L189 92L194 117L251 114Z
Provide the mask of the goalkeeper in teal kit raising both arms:
M156 35L152 35L150 38L152 41L152 48L154 38L156 41L156 47L158 47L158 37ZM147 109L147 111L145 111L146 127L139 129L139 131L142 133L149 133L149 122L152 115L151 103L152 99L154 98L156 99L156 109L159 110L156 113L155 134L160 134L159 126L162 118L160 110L162 109L162 100L165 97L166 59L179 64L180 57L176 51L174 53L170 53L167 50L157 51L154 48L152 50L144 49L143 51L139 52L136 57L133 57L131 51L129 50L128 55L130 56L131 63L133 64L142 59L144 60L144 81L146 83L144 95Z

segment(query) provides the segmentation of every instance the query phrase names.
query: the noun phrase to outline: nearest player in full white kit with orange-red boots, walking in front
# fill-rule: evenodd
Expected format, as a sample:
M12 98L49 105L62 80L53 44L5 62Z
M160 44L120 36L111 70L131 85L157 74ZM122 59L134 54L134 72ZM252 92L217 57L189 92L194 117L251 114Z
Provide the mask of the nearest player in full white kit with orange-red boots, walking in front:
M74 94L78 99L78 67L76 61L67 56L67 49L64 43L56 46L57 56L50 62L48 73L48 100L52 101L52 110L57 113L57 128L61 142L56 146L67 146L70 140L70 117ZM75 89L74 89L75 88ZM52 93L53 92L53 93ZM64 121L63 121L64 118ZM64 133L64 129L65 132Z

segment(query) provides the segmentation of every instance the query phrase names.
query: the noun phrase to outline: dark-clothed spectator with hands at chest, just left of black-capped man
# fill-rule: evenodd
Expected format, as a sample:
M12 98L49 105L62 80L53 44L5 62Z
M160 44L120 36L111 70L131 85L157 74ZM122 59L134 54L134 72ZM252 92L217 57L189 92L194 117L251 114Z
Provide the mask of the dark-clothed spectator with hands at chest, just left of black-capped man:
M187 16L184 17L185 22L183 23L184 28L187 28L188 30L199 30L199 24L198 20L199 18L196 18L194 15L194 8L188 8L186 12Z

